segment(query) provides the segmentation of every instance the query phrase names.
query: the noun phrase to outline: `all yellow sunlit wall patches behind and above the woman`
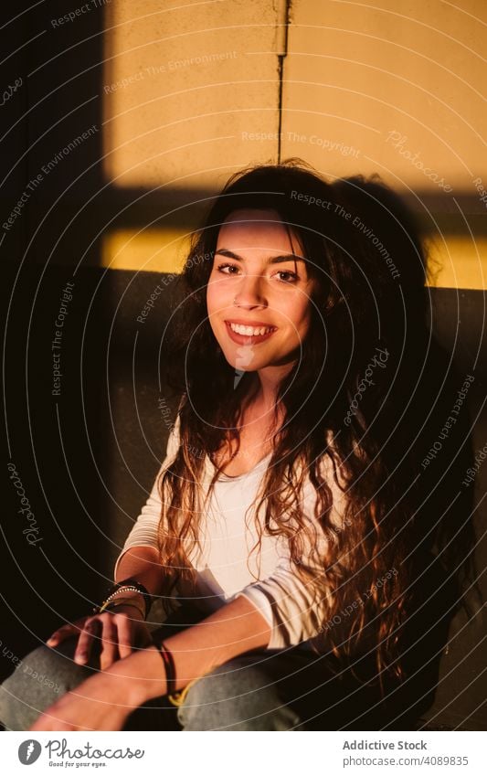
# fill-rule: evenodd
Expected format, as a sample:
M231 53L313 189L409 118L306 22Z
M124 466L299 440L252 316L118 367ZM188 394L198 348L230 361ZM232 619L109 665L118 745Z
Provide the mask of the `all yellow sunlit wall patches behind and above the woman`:
M378 173L416 198L435 284L484 288L487 5L294 0L280 92L285 5L107 5L105 175L190 202L240 167L277 161L281 140L281 158L331 177ZM179 271L196 226L113 231L103 263Z

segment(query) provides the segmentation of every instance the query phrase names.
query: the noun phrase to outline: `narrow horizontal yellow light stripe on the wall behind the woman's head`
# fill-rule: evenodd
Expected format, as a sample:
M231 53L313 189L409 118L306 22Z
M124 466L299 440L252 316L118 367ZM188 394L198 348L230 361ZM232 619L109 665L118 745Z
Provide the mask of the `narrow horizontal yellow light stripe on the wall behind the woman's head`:
M102 266L111 270L180 272L189 241L177 229L121 229L106 235ZM440 264L435 288L484 289L487 281L487 237L449 237L429 246L429 255Z

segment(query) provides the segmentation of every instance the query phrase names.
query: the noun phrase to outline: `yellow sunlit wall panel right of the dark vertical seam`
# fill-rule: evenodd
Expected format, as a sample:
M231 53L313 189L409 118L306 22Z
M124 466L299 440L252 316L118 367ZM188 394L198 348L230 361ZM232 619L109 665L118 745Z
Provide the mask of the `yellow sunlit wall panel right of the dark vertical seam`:
M420 192L487 183L487 6L457 5L294 0L283 155Z

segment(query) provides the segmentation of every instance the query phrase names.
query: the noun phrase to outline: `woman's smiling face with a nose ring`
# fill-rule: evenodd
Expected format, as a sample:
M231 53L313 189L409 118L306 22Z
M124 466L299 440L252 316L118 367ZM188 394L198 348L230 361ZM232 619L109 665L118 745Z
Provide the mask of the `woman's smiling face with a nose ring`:
M209 322L228 363L243 371L300 357L312 280L299 241L273 210L236 210L219 230L206 289Z

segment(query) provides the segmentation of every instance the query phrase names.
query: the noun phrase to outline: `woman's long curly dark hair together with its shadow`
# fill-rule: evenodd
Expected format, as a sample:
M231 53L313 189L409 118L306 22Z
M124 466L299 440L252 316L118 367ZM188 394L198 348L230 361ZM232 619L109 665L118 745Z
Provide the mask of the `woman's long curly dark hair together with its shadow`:
M286 537L296 573L316 596L323 586L332 591L317 645L350 663L372 643L378 675L401 676L416 580L433 555L449 569L451 537L457 553L469 537L457 514L439 512L432 468L419 465L450 399L440 400L444 369L427 325L421 241L408 209L378 178L327 183L295 159L252 167L230 178L194 235L166 349L168 381L180 400L180 447L159 482L164 594L169 600L178 579L194 579L204 499L219 473L204 494L205 459L229 438L238 443L242 402L256 387L252 372L234 387L235 370L206 310L218 230L242 208L278 213L316 281L301 358L277 395L285 420L255 505L259 536ZM331 520L323 456L346 496L342 529ZM307 477L316 491L314 517L329 540L326 557L309 550L316 537L308 536L299 507ZM333 627L338 621L345 629Z

